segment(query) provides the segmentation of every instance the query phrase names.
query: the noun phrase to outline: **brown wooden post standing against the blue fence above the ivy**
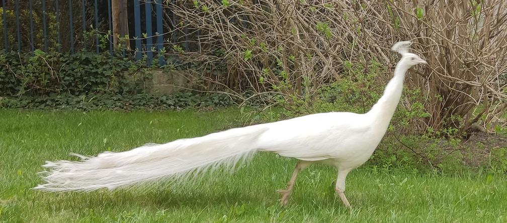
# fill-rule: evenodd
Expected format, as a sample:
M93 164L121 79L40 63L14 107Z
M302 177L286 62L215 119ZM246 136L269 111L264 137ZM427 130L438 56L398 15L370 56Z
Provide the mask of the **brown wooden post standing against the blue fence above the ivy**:
M113 17L113 43L115 46L120 44L119 37L128 36L128 16L126 0L111 0L111 14ZM125 40L125 47L130 49L130 42Z

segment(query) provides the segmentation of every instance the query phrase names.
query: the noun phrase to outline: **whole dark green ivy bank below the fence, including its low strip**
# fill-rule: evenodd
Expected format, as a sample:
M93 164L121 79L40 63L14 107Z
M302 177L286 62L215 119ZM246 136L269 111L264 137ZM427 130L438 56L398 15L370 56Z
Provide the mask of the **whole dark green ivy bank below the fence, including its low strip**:
M226 94L152 95L150 67L120 54L0 51L0 107L27 109L179 109L239 104ZM250 95L245 94L248 98ZM264 104L249 100L249 106Z

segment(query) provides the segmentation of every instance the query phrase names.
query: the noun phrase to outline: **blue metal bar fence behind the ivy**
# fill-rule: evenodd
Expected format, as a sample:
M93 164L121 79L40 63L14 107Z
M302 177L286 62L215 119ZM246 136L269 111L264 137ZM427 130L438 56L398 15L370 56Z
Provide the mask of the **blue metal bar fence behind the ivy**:
M151 63L167 45L178 43L180 38L187 40L185 34L171 31L176 20L162 0L120 0L120 4L126 4L120 8L127 11L120 13L127 13L127 21L121 24L122 30L114 31L125 34L125 39L123 46L114 46L112 0L2 0L0 50L121 51L136 60L146 55ZM181 42L189 48L187 42ZM163 57L159 58L163 65Z

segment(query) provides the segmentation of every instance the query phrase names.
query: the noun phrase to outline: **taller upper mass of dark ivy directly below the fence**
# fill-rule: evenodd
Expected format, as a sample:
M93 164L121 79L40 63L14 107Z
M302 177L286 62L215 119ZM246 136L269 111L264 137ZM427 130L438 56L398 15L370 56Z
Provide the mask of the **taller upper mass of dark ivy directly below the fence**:
M0 53L0 95L9 97L42 96L66 93L142 93L144 75L141 65L120 55L79 52L33 55Z

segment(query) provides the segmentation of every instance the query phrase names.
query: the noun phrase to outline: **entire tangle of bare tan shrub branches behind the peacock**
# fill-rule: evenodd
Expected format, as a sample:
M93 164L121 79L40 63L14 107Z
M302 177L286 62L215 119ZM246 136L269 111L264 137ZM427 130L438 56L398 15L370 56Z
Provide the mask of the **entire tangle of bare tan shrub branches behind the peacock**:
M222 87L275 91L289 102L311 99L324 84L354 78L343 72L347 61L368 70L373 60L392 70L397 55L388 49L396 41L412 40L430 64L407 77L430 113L413 120L419 129L455 128L459 134L480 121L491 130L507 107L503 0L165 4L183 21L177 27L198 37L198 52L178 53L198 61L200 70L227 66L227 75L203 75ZM390 72L379 74L379 84L389 78ZM407 108L411 103L402 100Z

